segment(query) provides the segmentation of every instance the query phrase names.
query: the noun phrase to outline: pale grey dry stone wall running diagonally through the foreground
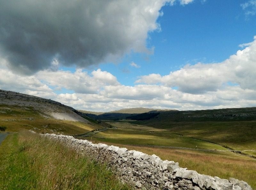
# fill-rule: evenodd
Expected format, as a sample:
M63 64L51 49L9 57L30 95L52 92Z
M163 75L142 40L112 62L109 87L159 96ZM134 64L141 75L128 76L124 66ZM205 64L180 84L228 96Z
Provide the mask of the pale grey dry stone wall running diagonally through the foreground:
M230 178L220 179L199 174L196 171L180 168L179 163L161 160L156 155L147 155L127 148L93 144L72 136L43 134L48 138L61 141L76 151L92 156L98 162L107 163L109 168L124 182L138 189L178 189L178 190L251 190L244 181Z

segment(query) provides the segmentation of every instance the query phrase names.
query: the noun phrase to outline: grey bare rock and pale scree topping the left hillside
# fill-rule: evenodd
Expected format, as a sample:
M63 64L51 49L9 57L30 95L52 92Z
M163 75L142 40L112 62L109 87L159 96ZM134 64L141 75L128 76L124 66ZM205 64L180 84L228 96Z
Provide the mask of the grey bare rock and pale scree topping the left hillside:
M51 99L40 98L37 96L0 90L0 104L22 106L24 109L26 109L26 107L33 107L46 118L90 123L88 120L81 117L79 112L74 108Z

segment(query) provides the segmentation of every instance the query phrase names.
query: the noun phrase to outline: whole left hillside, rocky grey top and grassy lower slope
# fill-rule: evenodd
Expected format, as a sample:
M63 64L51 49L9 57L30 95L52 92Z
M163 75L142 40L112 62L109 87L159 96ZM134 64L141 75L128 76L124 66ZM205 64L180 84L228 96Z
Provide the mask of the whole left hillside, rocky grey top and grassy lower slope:
M81 115L74 108L50 99L0 90L0 125L7 127L7 131L79 134L101 128Z

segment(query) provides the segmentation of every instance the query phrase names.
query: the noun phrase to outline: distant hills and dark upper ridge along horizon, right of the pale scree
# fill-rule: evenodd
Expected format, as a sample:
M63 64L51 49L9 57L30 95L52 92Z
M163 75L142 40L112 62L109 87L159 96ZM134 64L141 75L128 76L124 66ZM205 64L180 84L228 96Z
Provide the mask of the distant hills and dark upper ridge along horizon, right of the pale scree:
M251 108L227 108L215 110L154 110L148 108L132 108L97 113L83 111L86 116L96 120L149 120L156 124L182 121L253 121L256 120L256 107Z

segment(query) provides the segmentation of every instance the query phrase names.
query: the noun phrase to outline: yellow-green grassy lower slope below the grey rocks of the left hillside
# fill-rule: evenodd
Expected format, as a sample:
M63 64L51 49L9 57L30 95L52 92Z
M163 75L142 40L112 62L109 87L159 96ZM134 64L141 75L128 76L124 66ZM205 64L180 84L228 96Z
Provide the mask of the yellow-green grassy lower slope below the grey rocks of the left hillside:
M0 105L0 125L6 131L18 132L32 129L39 133L80 134L101 128L96 124L45 118L33 107Z

